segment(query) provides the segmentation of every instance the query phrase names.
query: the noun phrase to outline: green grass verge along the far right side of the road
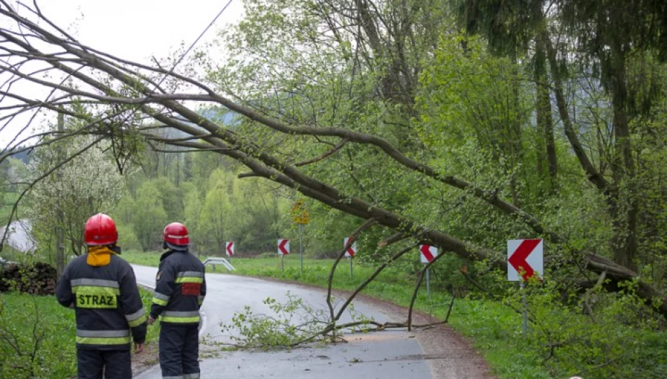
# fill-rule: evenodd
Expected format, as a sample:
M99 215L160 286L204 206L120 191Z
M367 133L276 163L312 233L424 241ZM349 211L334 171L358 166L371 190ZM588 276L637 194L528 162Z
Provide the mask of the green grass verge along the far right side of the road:
M159 253L128 252L123 255L126 260L138 265L157 266L159 262ZM314 286L326 287L334 260L304 259L303 275L299 272L298 255L289 255L285 259L284 274L278 256L232 258L230 262L237 270L232 274L301 281ZM212 267L206 267L206 270L213 272ZM355 262L354 276L350 277L348 260L341 260L336 268L334 288L354 291L374 270L374 267L357 265ZM228 273L220 265L216 271ZM408 307L413 291L414 279L388 267L364 289L363 293ZM415 307L417 310L444 319L450 300L451 296L438 291L433 291L432 300L428 300L423 290L417 297ZM458 299L449 317L449 324L472 340L475 348L482 352L484 359L499 378L551 378L546 368L541 366L540 357L522 349L519 342L521 317L507 307L484 300Z

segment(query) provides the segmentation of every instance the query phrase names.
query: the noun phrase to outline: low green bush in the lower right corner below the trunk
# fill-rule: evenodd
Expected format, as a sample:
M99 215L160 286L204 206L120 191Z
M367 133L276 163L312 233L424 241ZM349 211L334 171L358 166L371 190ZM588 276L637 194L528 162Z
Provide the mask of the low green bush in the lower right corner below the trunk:
M527 309L533 322L528 338L522 338L519 330L514 332L519 345L537 352L552 375L664 377L666 324L647 312L631 283L620 293L594 288L579 296L576 306L565 305L555 285L527 288ZM515 310L522 310L521 292L508 295Z

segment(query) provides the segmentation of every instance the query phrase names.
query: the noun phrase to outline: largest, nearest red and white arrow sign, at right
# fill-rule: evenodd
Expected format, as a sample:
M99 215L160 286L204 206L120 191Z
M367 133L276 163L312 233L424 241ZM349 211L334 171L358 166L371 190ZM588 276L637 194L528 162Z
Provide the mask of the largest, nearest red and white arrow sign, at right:
M507 279L519 281L528 280L535 275L542 274L543 244L541 239L510 239L507 241Z

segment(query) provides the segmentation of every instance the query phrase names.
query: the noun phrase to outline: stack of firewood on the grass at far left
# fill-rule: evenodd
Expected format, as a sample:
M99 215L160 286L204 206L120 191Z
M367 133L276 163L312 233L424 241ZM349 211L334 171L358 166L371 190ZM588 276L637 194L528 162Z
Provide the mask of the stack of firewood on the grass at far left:
M13 264L0 271L0 292L20 291L33 295L53 295L57 279L55 268L46 263Z

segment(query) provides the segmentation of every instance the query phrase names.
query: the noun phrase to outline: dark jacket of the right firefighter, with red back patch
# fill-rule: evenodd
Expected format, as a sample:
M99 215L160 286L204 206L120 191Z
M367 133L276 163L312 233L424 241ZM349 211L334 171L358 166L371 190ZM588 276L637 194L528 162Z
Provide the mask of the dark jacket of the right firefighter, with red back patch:
M206 296L204 272L204 264L187 251L162 254L150 316L168 324L199 324L199 308Z

